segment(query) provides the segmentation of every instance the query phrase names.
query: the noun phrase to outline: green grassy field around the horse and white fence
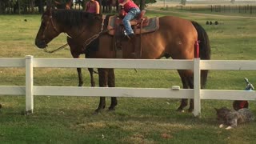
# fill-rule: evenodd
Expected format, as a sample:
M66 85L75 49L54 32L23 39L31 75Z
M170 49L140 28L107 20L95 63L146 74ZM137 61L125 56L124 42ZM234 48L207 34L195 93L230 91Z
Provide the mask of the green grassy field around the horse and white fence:
M199 22L210 37L212 59L253 60L256 51L254 18L206 14L147 11L147 16L176 15ZM71 58L69 48L46 54L34 46L40 15L0 15L0 57ZM24 21L27 20L27 22ZM222 22L206 25L206 21ZM66 43L62 34L50 49ZM85 86L89 74L83 70ZM118 87L163 87L181 85L175 70L115 70ZM35 86L77 86L75 69L38 68ZM256 83L254 71L210 71L207 89L243 90L243 78ZM22 68L0 68L0 86L24 86ZM109 104L109 99L107 99ZM118 98L114 112L94 115L98 98L35 97L34 114L24 115L24 96L0 96L1 143L254 143L256 122L234 130L218 128L214 107L231 107L231 101L202 101L202 116L178 113L179 99ZM256 114L256 102L250 102Z

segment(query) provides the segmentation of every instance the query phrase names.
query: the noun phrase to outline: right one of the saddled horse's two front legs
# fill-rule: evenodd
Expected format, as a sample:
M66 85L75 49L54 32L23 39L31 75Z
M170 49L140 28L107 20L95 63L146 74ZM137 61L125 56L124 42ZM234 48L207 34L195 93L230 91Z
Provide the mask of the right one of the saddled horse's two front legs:
M114 80L114 69L109 69L108 73L108 86L115 87L115 80ZM111 105L109 110L114 110L114 107L118 105L118 99L116 97L111 97Z

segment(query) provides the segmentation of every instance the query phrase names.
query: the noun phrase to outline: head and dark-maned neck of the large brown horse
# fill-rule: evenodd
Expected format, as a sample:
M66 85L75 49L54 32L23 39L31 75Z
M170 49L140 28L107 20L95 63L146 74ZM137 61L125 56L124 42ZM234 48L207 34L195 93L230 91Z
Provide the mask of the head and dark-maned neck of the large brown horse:
M101 14L90 14L82 10L55 10L47 5L46 12L42 14L35 45L38 48L46 48L47 44L62 32L72 38L82 36L84 40L98 34L101 26Z

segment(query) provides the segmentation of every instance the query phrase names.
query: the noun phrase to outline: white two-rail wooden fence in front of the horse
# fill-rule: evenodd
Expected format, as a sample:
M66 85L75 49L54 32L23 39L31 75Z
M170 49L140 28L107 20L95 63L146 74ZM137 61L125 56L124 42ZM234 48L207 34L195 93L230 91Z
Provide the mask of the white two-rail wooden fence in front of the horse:
M26 86L0 86L2 95L26 95L26 112L33 113L34 95L104 96L132 98L194 98L194 116L201 113L201 99L256 100L254 91L201 90L200 70L256 70L256 61L171 60L171 59L74 59L74 58L0 58L0 67L26 67ZM156 89L124 87L34 86L37 67L94 67L194 70L194 89Z

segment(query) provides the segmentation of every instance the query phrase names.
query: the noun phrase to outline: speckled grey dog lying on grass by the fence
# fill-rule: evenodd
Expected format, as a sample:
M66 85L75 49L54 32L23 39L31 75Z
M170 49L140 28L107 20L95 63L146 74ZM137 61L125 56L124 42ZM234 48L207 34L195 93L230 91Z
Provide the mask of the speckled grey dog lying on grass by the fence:
M238 126L238 123L252 122L254 121L254 114L249 109L240 109L238 111L229 110L226 107L220 109L214 108L217 112L217 119L221 122L219 126L226 127L226 130L232 129Z

